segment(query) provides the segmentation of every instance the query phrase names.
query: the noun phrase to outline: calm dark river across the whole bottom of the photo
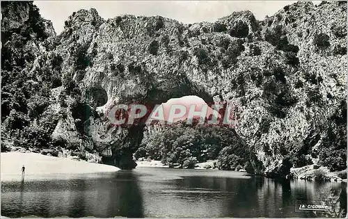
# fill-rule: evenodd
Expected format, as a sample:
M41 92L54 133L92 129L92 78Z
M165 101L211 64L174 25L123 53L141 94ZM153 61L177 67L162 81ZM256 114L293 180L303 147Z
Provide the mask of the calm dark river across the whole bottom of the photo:
M1 215L40 217L322 217L347 212L347 184L244 172L136 168L1 182ZM325 201L330 211L299 210ZM324 202L323 202L324 203Z

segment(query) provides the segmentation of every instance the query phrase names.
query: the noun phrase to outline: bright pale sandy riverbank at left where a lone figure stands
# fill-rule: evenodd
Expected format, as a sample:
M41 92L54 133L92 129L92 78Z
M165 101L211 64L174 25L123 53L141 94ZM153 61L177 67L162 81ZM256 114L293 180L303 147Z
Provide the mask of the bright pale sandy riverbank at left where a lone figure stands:
M73 161L68 158L58 158L32 152L3 152L1 153L1 181L20 179L22 165L25 166L26 179L42 178L44 175L72 175L120 170L111 165Z

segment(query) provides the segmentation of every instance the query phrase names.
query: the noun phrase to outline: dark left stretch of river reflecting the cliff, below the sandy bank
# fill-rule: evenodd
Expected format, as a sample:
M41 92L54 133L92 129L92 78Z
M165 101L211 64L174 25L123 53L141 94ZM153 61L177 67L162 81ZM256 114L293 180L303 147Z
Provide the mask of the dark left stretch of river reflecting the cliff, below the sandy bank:
M3 182L1 192L3 216L143 217L141 190L133 172L100 179Z

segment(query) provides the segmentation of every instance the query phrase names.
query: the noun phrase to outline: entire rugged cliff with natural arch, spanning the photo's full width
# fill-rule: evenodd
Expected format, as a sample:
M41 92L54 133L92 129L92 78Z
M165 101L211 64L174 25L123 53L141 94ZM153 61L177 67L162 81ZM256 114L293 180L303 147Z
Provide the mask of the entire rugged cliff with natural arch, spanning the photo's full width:
M346 2L298 2L263 21L244 11L198 24L133 15L104 20L95 9L79 10L58 36L33 3L1 3L1 11L7 145L104 154L104 163L135 168L143 121L112 127L109 108L197 95L239 103L236 132L258 174L285 177L292 165L330 158L333 170L347 167ZM29 76L21 81L22 74ZM24 103L11 83L32 89ZM46 92L35 91L42 84ZM35 97L47 101L42 106ZM33 127L41 133L47 126L42 142L26 140Z

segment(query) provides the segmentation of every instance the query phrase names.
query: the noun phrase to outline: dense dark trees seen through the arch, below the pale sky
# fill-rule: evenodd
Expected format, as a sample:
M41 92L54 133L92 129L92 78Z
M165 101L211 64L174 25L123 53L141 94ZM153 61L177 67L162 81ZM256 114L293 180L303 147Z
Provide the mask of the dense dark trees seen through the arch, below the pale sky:
M218 160L216 168L220 170L239 170L250 165L248 147L233 129L197 122L191 125L176 122L145 136L134 156L160 160L169 166L178 164L182 168L193 168L197 162L209 160Z

